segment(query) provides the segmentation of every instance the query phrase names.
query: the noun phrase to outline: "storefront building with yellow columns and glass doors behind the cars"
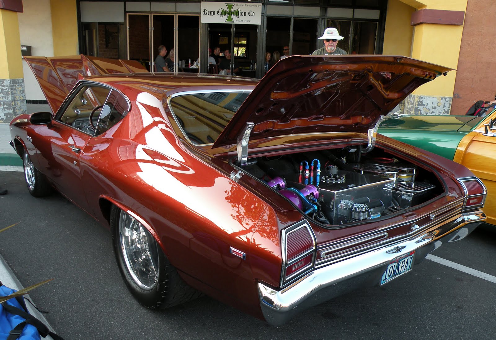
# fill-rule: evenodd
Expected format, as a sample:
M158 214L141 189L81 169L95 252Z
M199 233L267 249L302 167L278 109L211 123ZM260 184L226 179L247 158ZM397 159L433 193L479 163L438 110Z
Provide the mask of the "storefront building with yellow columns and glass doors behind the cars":
M344 37L338 47L348 54L414 57L457 69L417 89L401 107L404 113L448 114L474 100L493 99L494 88L467 79L490 55L472 49L479 8L492 0L239 0L80 1L10 0L0 9L0 122L25 112L45 98L23 54L135 59L154 70L157 48L175 50L175 70L207 73L208 49L233 51L237 75L261 78L265 53L309 55L322 46L326 27ZM486 6L484 6L486 4ZM242 9L240 9L242 8ZM243 9L245 8L245 9ZM493 9L490 9L493 10ZM215 20L209 19L220 16ZM211 15L212 14L212 15ZM496 13L493 13L496 14ZM490 14L489 14L490 15ZM484 30L496 24L488 22ZM471 36L465 41L464 36ZM484 35L482 35L484 37ZM461 44L464 42L464 48ZM223 58L221 53L220 58ZM195 61L199 67L195 67ZM191 66L190 66L191 65ZM460 67L462 66L462 67ZM490 68L495 66L490 65ZM481 72L482 73L482 72ZM473 83L474 84L474 83ZM463 94L463 95L462 95ZM468 106L467 106L468 105ZM453 110L451 109L451 113ZM456 112L459 113L459 112Z

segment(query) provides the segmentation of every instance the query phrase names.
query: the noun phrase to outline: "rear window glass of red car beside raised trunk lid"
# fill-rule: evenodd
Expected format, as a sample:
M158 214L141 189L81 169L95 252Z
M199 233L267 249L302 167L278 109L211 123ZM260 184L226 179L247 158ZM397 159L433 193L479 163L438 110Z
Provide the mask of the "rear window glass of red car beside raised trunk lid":
M193 144L212 144L249 92L207 92L173 97L170 109Z

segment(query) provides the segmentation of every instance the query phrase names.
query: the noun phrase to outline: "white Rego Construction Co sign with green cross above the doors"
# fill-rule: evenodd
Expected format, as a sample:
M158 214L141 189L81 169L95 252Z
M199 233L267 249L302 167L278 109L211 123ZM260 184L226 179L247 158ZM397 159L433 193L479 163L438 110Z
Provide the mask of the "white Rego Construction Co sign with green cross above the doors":
M262 23L262 4L244 2L201 2L201 22L209 24Z

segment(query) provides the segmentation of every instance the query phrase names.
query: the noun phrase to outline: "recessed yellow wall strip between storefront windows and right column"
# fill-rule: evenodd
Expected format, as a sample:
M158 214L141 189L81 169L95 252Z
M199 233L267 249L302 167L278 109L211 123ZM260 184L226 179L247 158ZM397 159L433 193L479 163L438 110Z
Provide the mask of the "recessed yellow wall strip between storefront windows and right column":
M387 2L384 45L382 54L411 56L413 26L412 13L415 8L400 0Z

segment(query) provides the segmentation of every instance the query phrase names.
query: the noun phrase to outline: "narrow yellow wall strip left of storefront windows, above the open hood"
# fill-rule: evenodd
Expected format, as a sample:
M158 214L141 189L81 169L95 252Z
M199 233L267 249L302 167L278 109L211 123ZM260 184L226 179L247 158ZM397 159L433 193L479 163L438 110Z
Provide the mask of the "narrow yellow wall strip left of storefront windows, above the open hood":
M54 56L79 54L76 0L50 0Z

